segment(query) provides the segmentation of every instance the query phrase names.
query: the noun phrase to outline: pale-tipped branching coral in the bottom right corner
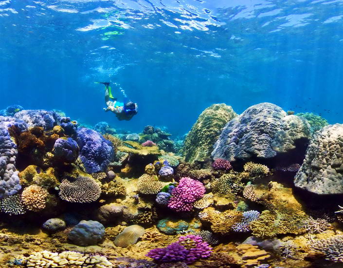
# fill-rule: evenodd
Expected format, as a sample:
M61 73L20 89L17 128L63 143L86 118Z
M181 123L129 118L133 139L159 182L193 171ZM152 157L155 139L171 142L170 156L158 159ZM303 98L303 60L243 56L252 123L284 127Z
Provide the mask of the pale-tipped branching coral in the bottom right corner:
M312 249L325 255L328 261L343 262L343 235L335 235L329 238L314 240Z

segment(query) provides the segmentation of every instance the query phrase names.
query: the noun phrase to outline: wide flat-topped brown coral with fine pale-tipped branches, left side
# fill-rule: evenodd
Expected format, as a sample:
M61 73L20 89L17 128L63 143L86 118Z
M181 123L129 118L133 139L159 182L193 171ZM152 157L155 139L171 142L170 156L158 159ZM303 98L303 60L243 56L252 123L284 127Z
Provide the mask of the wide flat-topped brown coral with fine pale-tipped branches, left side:
M94 179L85 176L64 179L59 190L59 196L63 200L75 203L93 202L101 194L100 185Z

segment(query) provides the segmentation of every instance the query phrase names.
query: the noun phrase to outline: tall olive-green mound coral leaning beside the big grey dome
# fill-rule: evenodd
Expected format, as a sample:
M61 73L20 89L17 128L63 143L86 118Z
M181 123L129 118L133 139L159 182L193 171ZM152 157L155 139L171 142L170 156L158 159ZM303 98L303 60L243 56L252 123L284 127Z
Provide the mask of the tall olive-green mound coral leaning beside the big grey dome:
M222 129L236 116L232 107L224 103L206 108L186 136L183 146L185 160L194 162L210 157Z

